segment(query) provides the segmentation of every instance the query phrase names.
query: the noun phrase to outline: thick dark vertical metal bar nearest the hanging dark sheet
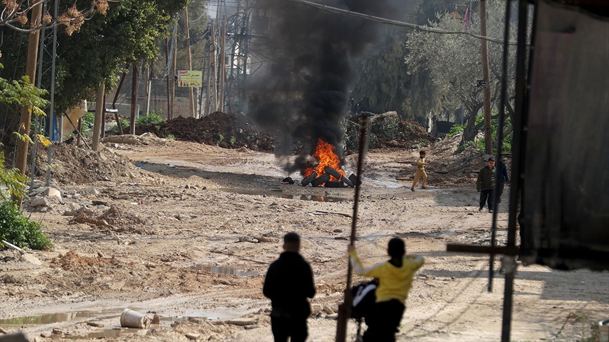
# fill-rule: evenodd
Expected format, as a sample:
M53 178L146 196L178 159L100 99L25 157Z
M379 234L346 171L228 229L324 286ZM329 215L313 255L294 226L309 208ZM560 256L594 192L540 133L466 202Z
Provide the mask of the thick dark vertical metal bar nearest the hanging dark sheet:
M524 116L526 111L526 49L527 49L527 0L518 2L518 47L516 48L516 99L514 116L514 135L512 148L517 156L512 159L512 191L510 191L510 212L508 216L507 246L515 246L516 242L516 212L518 211L518 194L521 188L521 176L523 168L524 149L522 139L524 135ZM529 65L529 70L530 70ZM505 270L505 288L503 296L503 318L501 327L501 341L510 341L510 329L512 327L512 296L514 290L515 260L505 257L507 261Z

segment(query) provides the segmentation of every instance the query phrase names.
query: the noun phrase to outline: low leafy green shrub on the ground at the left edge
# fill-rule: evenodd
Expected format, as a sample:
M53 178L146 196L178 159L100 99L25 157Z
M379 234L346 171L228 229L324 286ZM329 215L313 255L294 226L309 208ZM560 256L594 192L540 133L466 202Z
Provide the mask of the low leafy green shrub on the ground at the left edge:
M44 235L40 222L30 221L9 200L0 202L0 239L18 247L48 250L53 243Z

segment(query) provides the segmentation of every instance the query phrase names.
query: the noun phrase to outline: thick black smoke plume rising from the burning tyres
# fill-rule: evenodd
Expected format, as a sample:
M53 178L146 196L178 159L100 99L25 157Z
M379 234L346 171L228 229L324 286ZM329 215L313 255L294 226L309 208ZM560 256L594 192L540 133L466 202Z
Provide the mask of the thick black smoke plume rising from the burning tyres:
M334 0L320 4L351 12L395 17L395 1ZM252 54L268 60L248 81L249 115L278 138L276 155L290 155L294 142L305 155L286 166L303 169L319 138L335 147L343 139L340 122L356 80L358 57L374 43L379 23L292 1L258 3L269 17L266 38L253 38ZM342 151L336 150L341 156Z

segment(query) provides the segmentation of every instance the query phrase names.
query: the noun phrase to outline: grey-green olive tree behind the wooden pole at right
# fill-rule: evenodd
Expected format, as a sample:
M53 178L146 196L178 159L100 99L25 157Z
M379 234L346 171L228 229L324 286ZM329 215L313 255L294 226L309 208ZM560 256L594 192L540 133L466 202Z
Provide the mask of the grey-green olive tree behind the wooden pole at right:
M504 36L505 2L488 1L488 36L502 40ZM476 21L476 16L474 16ZM463 18L457 12L438 13L437 21L430 21L430 27L446 31L462 31ZM512 25L510 40L516 41L516 30ZM472 27L471 30L477 28ZM409 54L406 62L412 67L410 72L429 74L434 83L438 97L443 99L443 107L448 110L463 108L466 112L467 124L463 131L463 142L473 140L482 124L476 124L476 116L482 108L482 88L477 88L476 80L482 79L482 61L479 38L470 35L446 35L431 32L413 32L407 42ZM515 79L515 47L509 51L509 72L507 75L508 90L506 110L513 116L513 80ZM501 80L503 46L489 42L489 68L491 102L493 107L498 105ZM504 131L507 136L512 131L511 126Z

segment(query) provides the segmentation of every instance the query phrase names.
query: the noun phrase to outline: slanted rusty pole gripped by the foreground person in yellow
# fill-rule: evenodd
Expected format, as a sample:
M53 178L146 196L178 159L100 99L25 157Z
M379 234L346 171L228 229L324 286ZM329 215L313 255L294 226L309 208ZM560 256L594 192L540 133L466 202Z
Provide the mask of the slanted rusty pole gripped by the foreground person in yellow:
M357 156L357 177L355 180L355 197L353 198L353 217L351 217L351 236L349 243L355 245L356 239L356 223L357 223L357 207L359 204L359 192L362 179L362 164L364 164L366 128L368 126L368 114L362 113L362 125L359 130L359 155ZM339 312L336 324L336 342L345 342L347 338L347 319L351 312L351 262L347 257L347 285L345 285L345 300L339 305Z

